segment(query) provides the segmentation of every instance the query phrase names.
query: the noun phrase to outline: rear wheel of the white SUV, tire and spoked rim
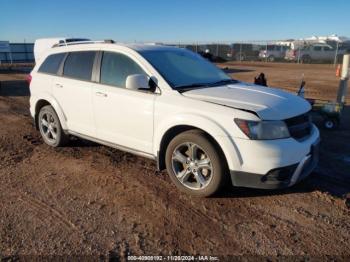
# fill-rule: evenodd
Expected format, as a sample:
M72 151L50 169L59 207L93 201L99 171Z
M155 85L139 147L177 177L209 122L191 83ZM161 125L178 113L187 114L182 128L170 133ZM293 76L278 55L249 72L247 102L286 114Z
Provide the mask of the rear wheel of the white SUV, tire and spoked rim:
M69 137L63 132L60 120L52 106L44 106L38 116L40 134L46 144L52 147L64 146Z

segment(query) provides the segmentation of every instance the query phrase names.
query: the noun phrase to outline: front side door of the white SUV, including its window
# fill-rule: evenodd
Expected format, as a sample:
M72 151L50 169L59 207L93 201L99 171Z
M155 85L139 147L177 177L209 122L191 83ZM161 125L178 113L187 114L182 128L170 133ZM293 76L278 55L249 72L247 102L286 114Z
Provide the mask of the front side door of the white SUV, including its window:
M93 90L97 137L150 154L156 94L126 89L126 78L132 74L146 74L134 58L116 52L101 53L99 83Z

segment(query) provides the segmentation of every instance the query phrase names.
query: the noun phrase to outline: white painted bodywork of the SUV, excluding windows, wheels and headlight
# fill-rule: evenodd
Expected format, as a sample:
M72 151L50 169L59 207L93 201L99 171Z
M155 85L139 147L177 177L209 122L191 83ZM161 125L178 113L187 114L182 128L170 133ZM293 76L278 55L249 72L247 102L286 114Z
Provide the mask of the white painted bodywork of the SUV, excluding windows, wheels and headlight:
M237 83L179 93L138 50L162 48L148 45L95 43L52 48L45 54L103 50L133 59L156 79L155 93L115 88L94 82L56 77L33 69L30 111L36 116L38 101L56 110L62 128L102 143L120 145L156 159L164 134L172 127L189 125L210 134L221 147L231 171L264 175L269 170L297 164L319 140L317 128L303 140L250 140L234 123L246 120L283 120L310 110L302 98L287 92ZM43 57L42 60L45 59Z

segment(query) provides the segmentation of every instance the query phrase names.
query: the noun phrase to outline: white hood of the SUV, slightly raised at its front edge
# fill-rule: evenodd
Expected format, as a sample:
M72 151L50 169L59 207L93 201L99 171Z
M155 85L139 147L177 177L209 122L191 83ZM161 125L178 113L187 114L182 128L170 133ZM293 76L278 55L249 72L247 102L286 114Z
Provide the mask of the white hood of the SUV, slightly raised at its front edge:
M253 111L263 120L282 120L308 112L310 104L285 91L238 82L218 87L190 90L186 97L223 106Z

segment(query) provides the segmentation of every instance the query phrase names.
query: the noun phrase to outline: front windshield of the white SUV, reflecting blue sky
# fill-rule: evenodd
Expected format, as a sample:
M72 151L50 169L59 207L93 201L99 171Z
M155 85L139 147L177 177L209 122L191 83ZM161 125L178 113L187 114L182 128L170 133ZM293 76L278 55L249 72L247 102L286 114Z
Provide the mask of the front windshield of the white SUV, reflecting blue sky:
M185 49L147 50L140 53L176 90L231 80L221 69Z

